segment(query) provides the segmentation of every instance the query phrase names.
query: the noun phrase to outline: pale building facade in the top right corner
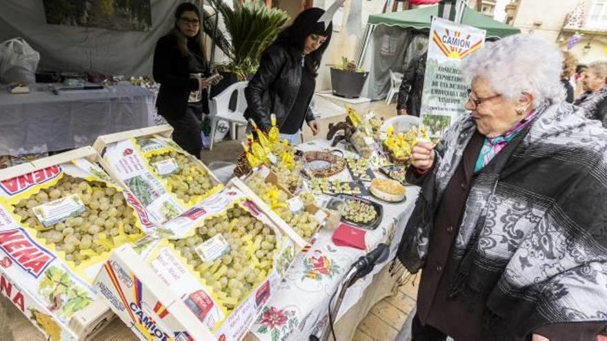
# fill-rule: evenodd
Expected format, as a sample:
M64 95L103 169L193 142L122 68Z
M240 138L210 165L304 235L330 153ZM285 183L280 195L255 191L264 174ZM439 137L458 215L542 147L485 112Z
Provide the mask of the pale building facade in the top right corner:
M580 63L607 60L607 0L513 0L506 23L558 43ZM568 46L574 35L581 39Z

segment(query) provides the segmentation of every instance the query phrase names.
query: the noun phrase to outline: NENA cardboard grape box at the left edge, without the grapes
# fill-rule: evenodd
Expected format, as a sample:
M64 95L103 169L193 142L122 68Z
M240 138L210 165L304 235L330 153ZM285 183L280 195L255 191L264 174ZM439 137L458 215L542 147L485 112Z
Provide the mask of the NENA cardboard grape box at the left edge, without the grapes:
M98 161L99 154L85 147L0 170L0 292L49 340L86 340L112 320L112 312L91 285L109 252L90 255L76 265L57 245L39 238L39 231L17 209L22 199L54 187L64 176L105 183L121 193ZM141 235L153 229L141 204L129 192L122 194L137 216Z

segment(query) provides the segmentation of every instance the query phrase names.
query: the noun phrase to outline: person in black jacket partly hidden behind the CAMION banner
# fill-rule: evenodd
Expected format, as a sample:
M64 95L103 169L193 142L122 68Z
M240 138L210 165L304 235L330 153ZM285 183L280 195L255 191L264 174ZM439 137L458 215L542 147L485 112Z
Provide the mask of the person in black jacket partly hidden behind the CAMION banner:
M408 65L407 72L399 87L396 105L397 114L412 115L419 117L421 110L421 94L424 91L424 76L426 74L426 60L428 51L412 59Z

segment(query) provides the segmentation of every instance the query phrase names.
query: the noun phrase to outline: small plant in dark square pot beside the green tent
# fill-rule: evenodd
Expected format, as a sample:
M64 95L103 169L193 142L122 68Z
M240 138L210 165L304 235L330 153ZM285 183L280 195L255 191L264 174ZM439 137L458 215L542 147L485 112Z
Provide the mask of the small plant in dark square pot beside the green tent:
M354 61L341 57L341 65L331 67L333 94L346 99L359 98L369 72L357 68Z

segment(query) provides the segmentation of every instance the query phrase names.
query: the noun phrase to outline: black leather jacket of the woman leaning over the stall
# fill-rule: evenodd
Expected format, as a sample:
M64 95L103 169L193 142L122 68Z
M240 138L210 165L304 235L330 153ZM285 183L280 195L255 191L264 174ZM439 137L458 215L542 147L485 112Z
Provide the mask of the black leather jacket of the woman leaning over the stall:
M247 105L244 116L252 118L262 129L271 127L270 114L276 115L278 127L288 118L294 105L305 105L306 122L315 119L308 103L295 103L301 85L301 63L294 61L288 47L270 45L259 61L255 76L244 90Z

